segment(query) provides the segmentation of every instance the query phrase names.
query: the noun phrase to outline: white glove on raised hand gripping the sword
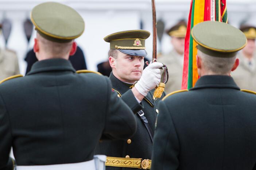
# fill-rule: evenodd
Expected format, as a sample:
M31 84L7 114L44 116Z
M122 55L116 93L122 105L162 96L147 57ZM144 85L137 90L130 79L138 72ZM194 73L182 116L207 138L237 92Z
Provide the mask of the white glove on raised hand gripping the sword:
M161 81L161 71L159 68L163 66L160 62L153 62L149 64L142 72L140 80L135 84L138 92L147 96L148 92L159 85Z

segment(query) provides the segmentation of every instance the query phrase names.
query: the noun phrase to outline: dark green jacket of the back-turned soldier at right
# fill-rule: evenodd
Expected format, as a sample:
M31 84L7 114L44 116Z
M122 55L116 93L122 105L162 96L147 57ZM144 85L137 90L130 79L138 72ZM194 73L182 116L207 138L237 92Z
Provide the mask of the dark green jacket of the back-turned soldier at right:
M151 170L256 170L256 95L202 76L159 105Z

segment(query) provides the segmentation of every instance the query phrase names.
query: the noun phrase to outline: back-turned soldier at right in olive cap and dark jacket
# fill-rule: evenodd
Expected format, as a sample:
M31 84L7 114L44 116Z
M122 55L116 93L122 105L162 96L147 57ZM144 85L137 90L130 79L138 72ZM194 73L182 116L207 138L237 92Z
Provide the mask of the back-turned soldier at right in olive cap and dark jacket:
M160 102L151 169L255 170L256 92L230 77L246 37L218 21L195 25L191 35L201 78Z

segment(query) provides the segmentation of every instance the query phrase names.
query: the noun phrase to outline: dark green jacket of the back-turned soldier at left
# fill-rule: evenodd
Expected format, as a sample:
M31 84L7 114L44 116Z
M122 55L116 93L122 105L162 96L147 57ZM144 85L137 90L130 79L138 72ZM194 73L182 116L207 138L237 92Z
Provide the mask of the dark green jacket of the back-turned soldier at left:
M76 163L92 160L100 139L135 131L134 114L108 78L75 73L67 60L38 61L27 76L0 84L1 170L11 146L17 165Z

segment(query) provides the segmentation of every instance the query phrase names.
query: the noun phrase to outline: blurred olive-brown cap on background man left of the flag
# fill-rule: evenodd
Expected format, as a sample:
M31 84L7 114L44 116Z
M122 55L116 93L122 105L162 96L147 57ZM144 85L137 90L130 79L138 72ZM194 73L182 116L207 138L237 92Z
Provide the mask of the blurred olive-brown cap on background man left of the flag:
M187 24L185 21L180 21L166 32L171 37L185 38L187 33Z

